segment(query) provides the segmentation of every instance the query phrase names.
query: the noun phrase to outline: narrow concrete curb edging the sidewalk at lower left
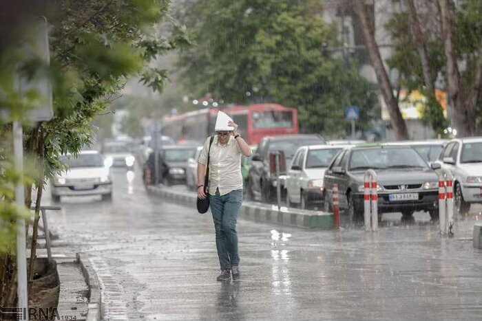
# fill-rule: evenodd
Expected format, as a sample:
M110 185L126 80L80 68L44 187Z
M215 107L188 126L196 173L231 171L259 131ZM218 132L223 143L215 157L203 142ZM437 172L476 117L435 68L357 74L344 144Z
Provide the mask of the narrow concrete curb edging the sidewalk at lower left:
M89 305L87 306L87 321L101 320L102 296L101 286L98 282L98 276L90 262L83 254L76 254L77 261L81 265L82 274L85 282L89 287Z

